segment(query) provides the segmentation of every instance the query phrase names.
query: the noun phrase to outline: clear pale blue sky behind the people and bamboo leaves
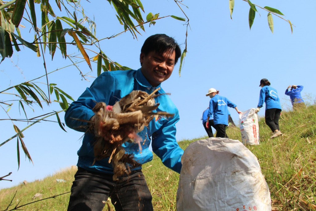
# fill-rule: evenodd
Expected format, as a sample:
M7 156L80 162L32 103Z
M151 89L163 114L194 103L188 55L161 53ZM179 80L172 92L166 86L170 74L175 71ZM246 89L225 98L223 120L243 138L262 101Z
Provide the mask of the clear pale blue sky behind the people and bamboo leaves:
M160 4L144 1L145 18L149 12L160 13L160 16L175 15L184 17L178 6L171 0L160 1ZM188 31L188 53L185 64L179 77L179 64L176 65L173 75L162 84L163 89L171 93L170 97L179 109L180 121L177 123L178 141L198 138L206 135L201 116L208 107L208 89L220 90L220 95L226 96L237 104L240 111L256 108L259 99L258 87L261 78L267 78L271 86L278 90L283 110L290 110L289 97L284 95L285 89L292 84L303 85L302 95L309 102L315 102L314 80L316 66L315 20L313 9L315 1L252 1L260 6L270 6L279 9L295 27L291 34L289 23L280 18L274 18L274 33L272 34L267 23L267 12L259 8L256 18L249 30L248 3L235 0L233 20L230 19L227 1L184 1L188 8L183 7L190 19ZM85 13L94 18L97 24L98 38L109 37L123 30L118 24L114 10L107 1L86 3L82 1ZM259 15L260 14L260 15ZM59 15L61 16L61 15ZM146 32L137 39L130 33L117 38L103 40L102 50L112 60L132 69L140 68L139 53L144 40L157 33L164 33L174 37L181 48L185 47L184 22L173 18L165 18L156 22L155 26L145 26ZM67 28L66 25L63 25ZM28 28L23 29L28 31ZM69 47L71 48L71 47ZM70 51L68 52L70 53ZM93 57L93 52L88 52ZM68 59L61 59L56 51L54 60L50 61L46 52L46 65L49 71L69 65ZM96 77L96 65L93 72L84 62L80 68L90 81L82 80L79 71L74 67L67 67L49 75L49 83L57 86L77 99L90 86ZM5 59L0 65L0 90L37 78L45 73L43 58L37 58L29 49L22 49L14 53L12 59ZM43 80L45 83L45 80ZM9 99L1 95L1 100ZM28 115L34 117L52 110L60 110L53 103L42 111L35 107L35 112ZM230 109L232 117L238 123L238 114ZM264 109L259 113L264 115ZM1 119L7 118L0 110ZM9 112L11 118L21 118L17 109ZM63 115L60 115L63 119ZM52 120L56 120L52 118ZM26 124L17 123L21 128ZM282 122L286 124L286 122ZM282 131L281 124L281 131ZM10 121L0 121L2 140L7 140L15 134ZM20 169L17 171L16 139L0 147L2 159L0 176L12 172L13 182L0 181L0 188L17 185L24 180L32 182L52 175L64 168L76 165L76 152L81 146L82 133L66 128L67 133L60 129L58 124L51 122L38 123L24 132L24 142L30 152L34 165L21 156ZM63 179L63 178L60 178Z

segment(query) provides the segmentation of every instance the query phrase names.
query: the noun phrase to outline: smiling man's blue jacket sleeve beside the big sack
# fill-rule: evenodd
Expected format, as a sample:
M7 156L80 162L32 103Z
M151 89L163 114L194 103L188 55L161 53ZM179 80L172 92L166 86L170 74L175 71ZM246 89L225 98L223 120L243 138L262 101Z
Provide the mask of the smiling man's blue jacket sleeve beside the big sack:
M179 112L167 121L158 131L152 135L153 152L161 159L162 163L168 168L180 173L181 156L183 149L180 148L176 135L175 124L179 121Z

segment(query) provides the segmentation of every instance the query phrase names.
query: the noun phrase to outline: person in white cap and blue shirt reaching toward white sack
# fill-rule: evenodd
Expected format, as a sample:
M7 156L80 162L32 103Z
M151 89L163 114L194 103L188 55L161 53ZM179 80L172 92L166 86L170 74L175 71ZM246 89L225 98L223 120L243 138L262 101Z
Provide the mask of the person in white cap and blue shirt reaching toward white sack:
M218 93L218 90L210 88L206 94L206 96L210 96L211 98L206 127L209 128L208 121L213 115L216 137L228 138L226 134L226 127L228 126L228 107L234 108L238 114L241 114L241 112L233 102L229 101L226 97L219 96Z

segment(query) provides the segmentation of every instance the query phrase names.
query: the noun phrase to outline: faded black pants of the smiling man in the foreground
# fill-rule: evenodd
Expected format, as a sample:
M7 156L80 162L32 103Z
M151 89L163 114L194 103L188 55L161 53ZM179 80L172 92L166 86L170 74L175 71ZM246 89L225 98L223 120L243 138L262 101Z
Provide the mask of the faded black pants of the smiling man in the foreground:
M113 181L112 174L95 173L78 167L71 187L68 211L101 211L102 201L111 197L116 211L153 211L152 196L141 170Z

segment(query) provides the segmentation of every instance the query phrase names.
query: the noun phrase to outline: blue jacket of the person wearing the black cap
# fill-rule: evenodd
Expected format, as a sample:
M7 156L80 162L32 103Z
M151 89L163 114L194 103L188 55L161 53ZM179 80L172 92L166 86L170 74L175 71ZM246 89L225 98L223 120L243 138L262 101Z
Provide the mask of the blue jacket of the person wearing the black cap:
M259 108L262 108L265 102L265 109L281 109L281 103L276 89L270 86L264 86L260 90Z

